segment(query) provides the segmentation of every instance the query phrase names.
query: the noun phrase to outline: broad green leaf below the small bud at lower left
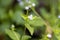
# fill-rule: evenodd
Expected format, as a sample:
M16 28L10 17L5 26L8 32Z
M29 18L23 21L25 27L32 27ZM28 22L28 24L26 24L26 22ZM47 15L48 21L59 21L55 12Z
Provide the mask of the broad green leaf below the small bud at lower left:
M13 40L20 40L20 35L15 31L6 29L5 33Z

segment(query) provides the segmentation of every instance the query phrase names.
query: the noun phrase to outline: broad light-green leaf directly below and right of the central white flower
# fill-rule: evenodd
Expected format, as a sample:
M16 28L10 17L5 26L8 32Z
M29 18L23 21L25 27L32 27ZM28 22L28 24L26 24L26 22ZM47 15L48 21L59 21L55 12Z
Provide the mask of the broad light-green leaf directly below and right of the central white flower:
M29 20L28 23L32 26L42 26L44 22L41 18L36 17L34 20Z

